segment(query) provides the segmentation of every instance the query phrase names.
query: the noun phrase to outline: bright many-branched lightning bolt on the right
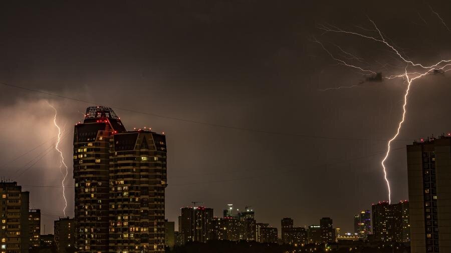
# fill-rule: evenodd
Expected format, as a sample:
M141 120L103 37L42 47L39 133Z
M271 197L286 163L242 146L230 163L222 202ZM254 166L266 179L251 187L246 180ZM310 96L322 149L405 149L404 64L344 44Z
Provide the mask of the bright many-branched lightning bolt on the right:
M363 37L363 38L374 40L376 42L380 42L380 43L384 44L385 46L387 46L390 50L392 50L396 55L398 55L398 59L401 62L405 63L405 68L404 68L404 72L403 73L392 74L392 75L388 75L388 76L384 76L383 77L385 79L404 78L406 80L406 82L407 82L406 89L405 89L405 92L404 92L403 104L402 104L402 116L401 116L400 120L398 121L395 134L387 142L387 149L386 149L387 151L385 152L385 156L382 158L382 160L380 162L380 164L382 165L383 172L384 172L384 179L385 179L385 182L387 183L388 202L391 203L391 189L390 189L390 182L389 182L389 180L387 178L387 167L385 166L385 161L387 160L388 156L390 155L391 143L399 135L399 132L401 131L401 126L402 126L402 124L404 123L404 120L405 120L405 115L407 113L407 109L406 109L406 107L407 107L407 96L409 94L410 85L412 84L413 80L421 78L421 77L423 77L425 75L434 74L434 73L440 73L440 72L446 72L446 71L451 70L451 59L442 59L442 60L439 60L437 63L432 64L432 65L423 65L423 64L420 64L420 63L415 63L415 62L407 59L405 55L403 56L395 48L395 46L393 46L392 44L387 42L387 40L382 35L382 32L376 26L375 22L373 22L371 19L369 19L369 21L374 25L374 28L375 28L374 31L378 33L378 36L380 38L374 37L374 36L370 36L370 35L361 34L361 33L354 32L354 31L343 30L343 29L340 29L340 28L338 28L336 26L333 26L333 25L330 25L330 24L328 24L328 25L320 25L318 28L324 30L325 33L326 32L344 33L344 34L347 34L347 35L360 36L360 37ZM446 26L446 24L445 24L445 26ZM360 71L362 71L364 73L376 73L376 71L372 71L372 70L369 70L369 69L363 69L360 66L357 66L357 65L354 65L354 64L346 62L346 60L360 59L360 58L358 58L356 56L353 56L352 58L346 57L345 59L336 58L328 49L326 49L326 47L320 41L318 41L316 39L314 41L319 43L321 45L321 47L332 57L332 59L337 61L339 64L345 65L345 66L348 66L348 67L352 67L354 69L358 69L358 70L360 70ZM407 71L407 69L409 67L413 68L413 71ZM355 86L357 86L357 85L341 86L341 87L337 87L337 88L326 88L326 89L323 89L322 91L329 90L329 89L350 88L350 87L355 87Z

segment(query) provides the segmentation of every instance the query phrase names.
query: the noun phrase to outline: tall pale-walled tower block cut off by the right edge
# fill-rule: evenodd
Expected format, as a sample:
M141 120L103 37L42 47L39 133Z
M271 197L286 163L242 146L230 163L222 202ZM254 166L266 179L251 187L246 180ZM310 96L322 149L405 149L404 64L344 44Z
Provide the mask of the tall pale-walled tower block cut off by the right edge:
M412 253L451 252L450 136L407 145Z

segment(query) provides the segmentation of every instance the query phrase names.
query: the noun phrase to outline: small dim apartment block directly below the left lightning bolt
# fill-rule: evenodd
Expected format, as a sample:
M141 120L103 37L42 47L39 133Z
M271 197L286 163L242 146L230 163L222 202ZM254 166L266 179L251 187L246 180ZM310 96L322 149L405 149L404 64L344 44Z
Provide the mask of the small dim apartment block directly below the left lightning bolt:
M54 221L55 245L58 253L70 252L75 243L75 219L59 218Z

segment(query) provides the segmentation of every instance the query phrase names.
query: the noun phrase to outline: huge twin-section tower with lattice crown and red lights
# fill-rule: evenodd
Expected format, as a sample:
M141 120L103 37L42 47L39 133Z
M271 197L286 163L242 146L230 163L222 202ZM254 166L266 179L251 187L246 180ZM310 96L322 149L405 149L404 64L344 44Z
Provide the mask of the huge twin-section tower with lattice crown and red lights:
M91 106L74 131L78 252L164 251L165 136Z

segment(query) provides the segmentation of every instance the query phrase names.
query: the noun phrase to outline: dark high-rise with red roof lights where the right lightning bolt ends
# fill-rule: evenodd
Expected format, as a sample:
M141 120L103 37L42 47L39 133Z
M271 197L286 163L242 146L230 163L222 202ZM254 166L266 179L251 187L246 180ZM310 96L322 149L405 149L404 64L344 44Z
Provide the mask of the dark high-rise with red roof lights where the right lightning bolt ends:
M408 201L373 204L373 235L376 241L409 241Z

